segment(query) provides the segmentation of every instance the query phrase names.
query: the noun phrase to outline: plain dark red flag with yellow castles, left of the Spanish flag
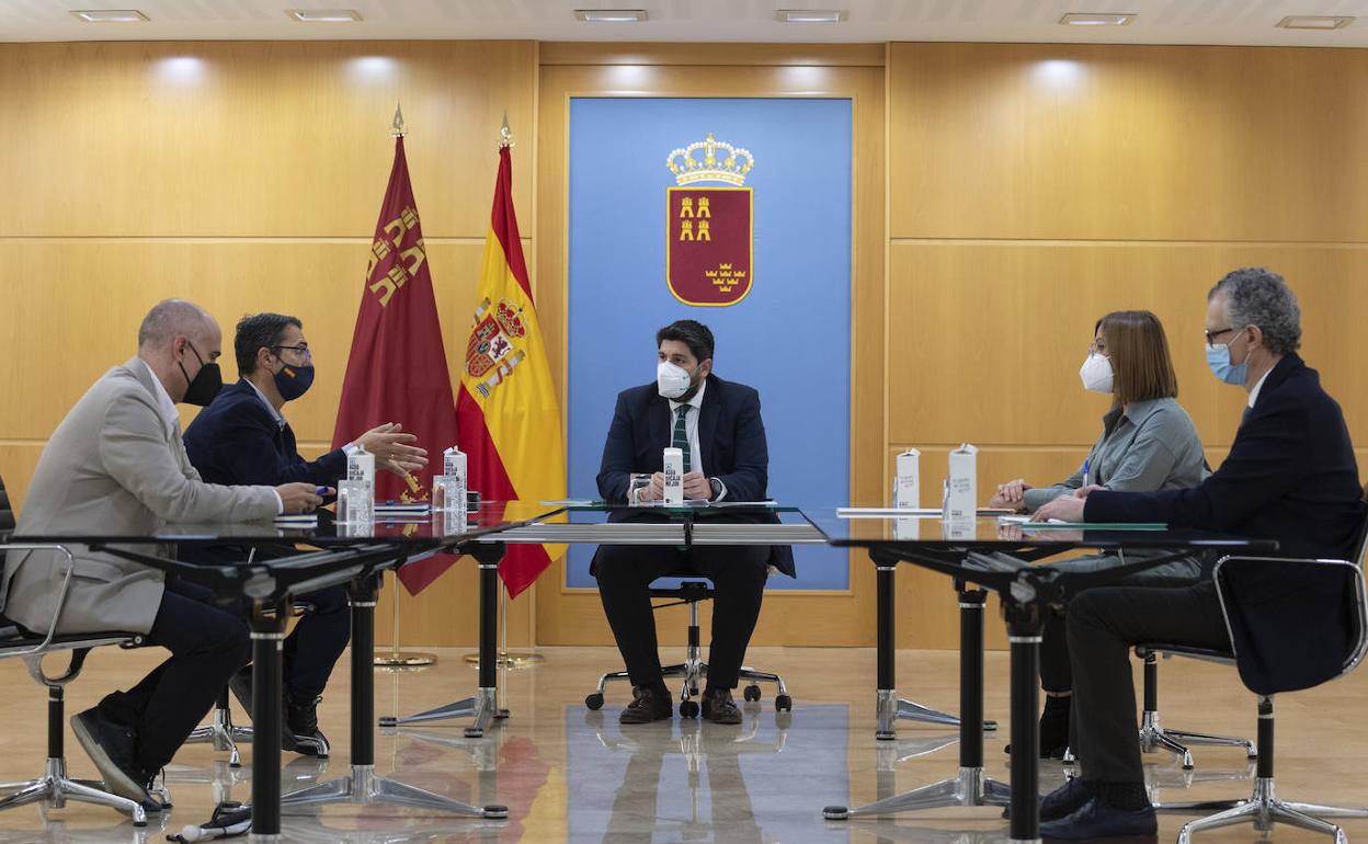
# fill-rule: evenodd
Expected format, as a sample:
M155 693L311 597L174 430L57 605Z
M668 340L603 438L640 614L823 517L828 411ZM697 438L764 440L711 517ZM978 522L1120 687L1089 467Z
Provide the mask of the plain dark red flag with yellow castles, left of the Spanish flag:
M408 479L376 471L376 498L428 501L442 450L456 443L456 402L402 137L394 141L390 186L375 224L332 447L391 421L416 434L435 460ZM399 580L417 595L454 561L430 557L404 566Z

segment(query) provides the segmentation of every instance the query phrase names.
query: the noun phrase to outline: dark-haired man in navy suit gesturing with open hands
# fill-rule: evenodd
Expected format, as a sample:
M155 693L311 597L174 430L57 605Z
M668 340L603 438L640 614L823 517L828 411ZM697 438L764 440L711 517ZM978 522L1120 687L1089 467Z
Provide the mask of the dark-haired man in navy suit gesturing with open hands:
M376 466L398 475L427 464L415 436L384 424L353 443L334 449L315 461L295 449L294 431L280 409L304 395L313 383L313 357L304 339L304 326L293 316L257 313L238 321L233 342L238 383L224 387L185 431L190 462L209 483L280 484L308 482L334 487L346 476L347 456L358 446L375 454ZM276 479L276 480L272 480ZM261 555L264 551L257 551ZM280 553L289 553L283 549ZM242 559L244 551L219 546L193 551L197 562ZM285 640L286 750L327 755L327 739L317 725L317 700L338 657L352 636L346 587L332 587L304 596L309 610ZM252 674L244 669L231 687L244 709L252 711Z

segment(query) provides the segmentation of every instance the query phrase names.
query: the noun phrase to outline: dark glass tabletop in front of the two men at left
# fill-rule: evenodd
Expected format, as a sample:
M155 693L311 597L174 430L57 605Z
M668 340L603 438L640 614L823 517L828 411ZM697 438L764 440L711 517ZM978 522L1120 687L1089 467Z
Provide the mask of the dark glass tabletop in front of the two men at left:
M431 547L434 543L462 536L479 536L503 531L538 518L550 517L558 507L529 501L484 501L466 513L443 513L415 505L408 512L378 512L365 523L339 523L331 510L317 510L313 518L278 517L269 521L167 524L150 531L53 531L47 533L15 533L10 543L73 543L73 544L150 544L150 543L213 543L235 546L265 546L275 543L306 543L319 547L365 544L413 544Z

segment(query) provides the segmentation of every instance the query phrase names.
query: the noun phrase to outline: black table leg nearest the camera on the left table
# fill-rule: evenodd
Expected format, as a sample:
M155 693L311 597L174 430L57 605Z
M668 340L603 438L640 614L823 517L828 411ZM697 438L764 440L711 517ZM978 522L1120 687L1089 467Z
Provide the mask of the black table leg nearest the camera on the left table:
M252 607L252 840L280 840L280 665L289 603Z

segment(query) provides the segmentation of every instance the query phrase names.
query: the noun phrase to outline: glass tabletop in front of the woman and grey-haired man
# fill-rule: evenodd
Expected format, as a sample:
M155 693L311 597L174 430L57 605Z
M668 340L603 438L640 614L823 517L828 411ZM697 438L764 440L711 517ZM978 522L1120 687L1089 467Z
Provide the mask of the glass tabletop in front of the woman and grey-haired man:
M1040 524L1026 517L979 510L975 518L945 520L938 510L892 510L882 506L804 506L803 514L843 547L915 544L943 549L1089 547L1089 549L1250 549L1272 551L1270 539L1164 524Z

